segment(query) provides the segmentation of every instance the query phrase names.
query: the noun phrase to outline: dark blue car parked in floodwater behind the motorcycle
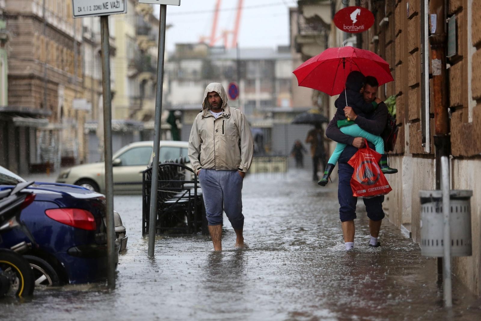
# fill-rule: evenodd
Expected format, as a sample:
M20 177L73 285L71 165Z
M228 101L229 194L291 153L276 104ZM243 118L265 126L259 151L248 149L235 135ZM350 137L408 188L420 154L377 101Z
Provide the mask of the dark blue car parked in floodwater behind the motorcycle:
M0 190L25 181L0 166ZM86 283L107 276L105 197L87 188L60 183L35 182L28 187L35 201L22 211L21 219L38 247L23 252L37 273L36 284ZM127 246L125 227L116 214L116 262L121 246ZM29 242L19 229L2 235L0 247Z

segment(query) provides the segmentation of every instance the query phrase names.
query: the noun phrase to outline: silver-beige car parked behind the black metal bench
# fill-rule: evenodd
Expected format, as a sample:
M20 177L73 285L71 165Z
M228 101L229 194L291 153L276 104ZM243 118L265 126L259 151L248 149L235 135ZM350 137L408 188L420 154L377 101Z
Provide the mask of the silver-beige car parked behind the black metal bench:
M189 142L161 141L159 160L188 159ZM141 193L142 171L152 162L153 141L137 142L122 147L113 156L114 193ZM79 185L105 193L105 163L77 165L64 170L57 183Z

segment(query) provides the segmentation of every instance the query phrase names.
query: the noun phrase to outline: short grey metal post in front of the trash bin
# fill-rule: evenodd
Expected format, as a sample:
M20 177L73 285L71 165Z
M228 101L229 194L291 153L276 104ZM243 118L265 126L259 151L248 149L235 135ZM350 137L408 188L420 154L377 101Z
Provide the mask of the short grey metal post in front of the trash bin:
M453 298L451 293L451 230L449 226L449 216L451 207L449 205L449 161L446 156L441 157L442 171L442 190L443 190L443 218L444 218L444 260L443 260L443 294L444 307L451 308L453 306Z

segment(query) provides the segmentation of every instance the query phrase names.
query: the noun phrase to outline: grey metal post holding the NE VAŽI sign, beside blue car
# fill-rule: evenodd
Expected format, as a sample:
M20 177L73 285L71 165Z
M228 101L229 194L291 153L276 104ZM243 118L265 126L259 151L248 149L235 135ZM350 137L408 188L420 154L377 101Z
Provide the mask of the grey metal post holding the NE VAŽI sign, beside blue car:
M105 201L107 216L107 282L111 289L115 288L114 263L114 176L112 174L112 109L110 92L110 44L109 16L100 17L102 48L102 98L103 98L103 140L105 158Z

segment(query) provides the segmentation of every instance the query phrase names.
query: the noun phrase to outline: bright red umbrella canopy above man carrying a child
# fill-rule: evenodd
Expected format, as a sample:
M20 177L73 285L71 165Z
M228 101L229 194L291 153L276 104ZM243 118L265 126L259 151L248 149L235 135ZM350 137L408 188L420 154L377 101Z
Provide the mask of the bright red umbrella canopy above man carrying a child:
M358 70L374 76L380 85L392 81L389 64L377 54L351 46L328 48L293 71L299 86L316 89L329 96L341 94L347 75Z

